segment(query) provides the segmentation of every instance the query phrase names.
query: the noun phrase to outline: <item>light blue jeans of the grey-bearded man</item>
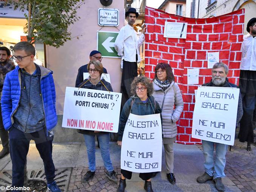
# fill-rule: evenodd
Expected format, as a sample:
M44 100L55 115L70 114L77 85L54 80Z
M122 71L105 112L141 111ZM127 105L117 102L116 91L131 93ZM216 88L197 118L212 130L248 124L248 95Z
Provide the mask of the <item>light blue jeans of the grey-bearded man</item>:
M213 151L214 142L202 140L202 147L205 157L204 168L208 175L213 176L213 179L217 177L225 177L224 168L226 164L226 152L228 145L215 143L216 145L216 159L214 163Z

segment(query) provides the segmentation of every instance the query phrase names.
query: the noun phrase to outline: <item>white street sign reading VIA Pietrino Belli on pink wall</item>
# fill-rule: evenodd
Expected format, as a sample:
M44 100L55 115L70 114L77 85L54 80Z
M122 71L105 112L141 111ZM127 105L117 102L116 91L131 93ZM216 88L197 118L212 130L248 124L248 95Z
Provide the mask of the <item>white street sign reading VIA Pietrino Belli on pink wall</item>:
M100 26L119 26L118 9L98 9L98 25Z

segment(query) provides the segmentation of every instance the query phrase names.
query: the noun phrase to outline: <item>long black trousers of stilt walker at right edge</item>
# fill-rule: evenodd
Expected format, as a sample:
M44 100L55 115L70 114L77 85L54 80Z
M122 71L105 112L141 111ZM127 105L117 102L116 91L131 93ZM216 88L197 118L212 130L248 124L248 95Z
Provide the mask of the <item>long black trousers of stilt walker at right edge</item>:
M240 142L253 143L253 120L256 106L256 71L241 70L239 89L243 101L244 114L240 121L238 138Z

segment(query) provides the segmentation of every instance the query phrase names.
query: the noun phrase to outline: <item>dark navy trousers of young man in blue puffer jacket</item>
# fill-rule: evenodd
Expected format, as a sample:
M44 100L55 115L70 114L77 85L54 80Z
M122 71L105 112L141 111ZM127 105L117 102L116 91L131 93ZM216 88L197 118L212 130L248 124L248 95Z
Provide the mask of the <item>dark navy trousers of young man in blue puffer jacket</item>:
M52 161L52 137L46 136L46 129L34 133L24 133L15 127L9 129L9 145L12 160L12 186L24 185L24 167L29 149L29 141L34 140L35 146L43 160L47 184L55 177L55 167Z

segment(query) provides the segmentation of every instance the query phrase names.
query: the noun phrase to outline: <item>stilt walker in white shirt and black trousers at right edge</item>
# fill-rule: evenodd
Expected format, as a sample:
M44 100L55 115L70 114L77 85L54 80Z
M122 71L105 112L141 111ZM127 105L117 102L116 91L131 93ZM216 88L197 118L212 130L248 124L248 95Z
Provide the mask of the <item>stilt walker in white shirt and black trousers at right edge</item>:
M243 100L244 115L240 121L238 138L247 141L247 151L253 143L253 112L256 105L256 18L247 23L247 35L242 43L242 61L239 88Z

